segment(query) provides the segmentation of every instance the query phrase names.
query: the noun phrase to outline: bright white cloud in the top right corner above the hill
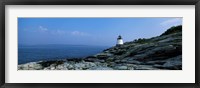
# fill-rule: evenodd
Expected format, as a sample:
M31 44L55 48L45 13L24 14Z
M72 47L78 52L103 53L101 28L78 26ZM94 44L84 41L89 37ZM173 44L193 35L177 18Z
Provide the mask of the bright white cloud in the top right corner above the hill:
M169 20L166 20L166 21L163 21L160 23L160 25L171 25L171 24L174 24L174 25L178 25L178 24L181 24L182 22L182 18L173 18L173 19L169 19Z

